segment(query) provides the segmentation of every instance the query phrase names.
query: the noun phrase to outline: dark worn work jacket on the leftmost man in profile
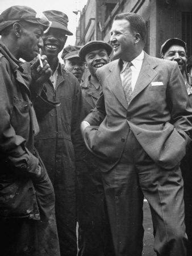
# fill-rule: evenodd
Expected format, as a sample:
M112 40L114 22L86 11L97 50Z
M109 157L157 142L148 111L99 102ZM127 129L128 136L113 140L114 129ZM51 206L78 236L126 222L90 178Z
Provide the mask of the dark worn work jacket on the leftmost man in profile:
M32 180L39 159L34 156L34 120L30 77L20 61L0 44L0 217L39 220Z

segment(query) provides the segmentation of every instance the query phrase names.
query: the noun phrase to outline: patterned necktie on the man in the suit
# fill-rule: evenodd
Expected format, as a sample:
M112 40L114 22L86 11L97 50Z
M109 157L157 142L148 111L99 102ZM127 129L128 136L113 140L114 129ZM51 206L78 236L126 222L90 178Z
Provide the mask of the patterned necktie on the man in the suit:
M131 95L132 95L132 86L131 86L132 75L131 75L131 68L130 68L131 65L132 65L131 62L127 63L127 66L124 69L123 81L122 81L124 95L126 96L126 101L128 104L130 103Z

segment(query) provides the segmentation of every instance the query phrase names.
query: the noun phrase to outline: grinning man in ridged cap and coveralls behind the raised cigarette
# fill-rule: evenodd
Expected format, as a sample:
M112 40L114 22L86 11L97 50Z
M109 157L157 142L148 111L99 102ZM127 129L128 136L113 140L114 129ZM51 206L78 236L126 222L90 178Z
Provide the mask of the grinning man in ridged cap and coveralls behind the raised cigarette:
M52 22L43 36L43 54L47 56L53 74L43 84L49 101L60 106L42 114L43 105L35 104L40 133L35 146L43 159L53 183L56 197L56 221L61 255L77 255L76 237L76 174L75 159L81 139L79 130L82 94L76 77L66 71L58 54L64 48L68 35L68 16L57 10L44 11ZM76 155L75 155L76 153ZM75 156L77 158L75 158Z

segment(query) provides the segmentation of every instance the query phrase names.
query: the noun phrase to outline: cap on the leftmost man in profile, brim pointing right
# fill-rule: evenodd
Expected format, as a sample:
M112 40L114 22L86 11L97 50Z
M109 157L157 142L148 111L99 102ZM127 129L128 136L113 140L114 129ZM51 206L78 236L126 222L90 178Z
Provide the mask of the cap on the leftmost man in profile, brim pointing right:
M35 10L27 6L11 6L0 15L0 34L11 24L19 22L20 20L26 20L26 22L40 24L44 30L48 30L51 26L49 20L43 13L37 14Z

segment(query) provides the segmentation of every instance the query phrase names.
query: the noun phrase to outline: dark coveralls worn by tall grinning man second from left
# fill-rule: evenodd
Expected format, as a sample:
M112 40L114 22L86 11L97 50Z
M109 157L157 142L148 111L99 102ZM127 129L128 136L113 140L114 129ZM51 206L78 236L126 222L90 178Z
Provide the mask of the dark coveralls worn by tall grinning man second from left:
M48 101L60 102L60 105L50 110L43 94ZM55 189L61 255L77 255L75 152L78 159L82 144L82 94L76 77L60 63L56 87L51 80L44 84L43 93L36 98L35 110L40 127L35 146Z

